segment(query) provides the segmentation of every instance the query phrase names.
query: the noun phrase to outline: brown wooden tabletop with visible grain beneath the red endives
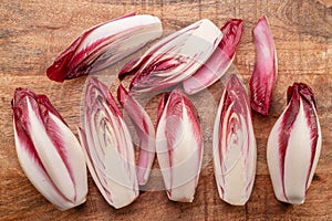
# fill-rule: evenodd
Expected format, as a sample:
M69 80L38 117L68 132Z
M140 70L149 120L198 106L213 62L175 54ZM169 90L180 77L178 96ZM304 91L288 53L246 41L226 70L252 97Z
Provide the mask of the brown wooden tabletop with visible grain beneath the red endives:
M59 84L45 76L53 59L84 29L132 11L160 18L175 31L207 18L221 27L245 20L235 65L248 83L255 61L251 29L263 14L270 20L278 51L279 76L269 117L253 114L258 144L257 177L249 202L231 207L216 189L211 161L203 169L193 203L168 201L164 191L142 192L131 206L110 207L89 177L83 206L59 211L25 178L15 156L10 102L15 87L46 94L75 131L85 77ZM1 220L332 220L332 8L315 0L142 0L142 1L0 1L0 219ZM323 145L314 180L301 206L276 200L267 169L266 144L286 107L286 90L293 82L315 92ZM210 87L216 101L218 84ZM155 113L155 110L149 109ZM154 114L152 114L154 115ZM211 144L206 146L210 149Z

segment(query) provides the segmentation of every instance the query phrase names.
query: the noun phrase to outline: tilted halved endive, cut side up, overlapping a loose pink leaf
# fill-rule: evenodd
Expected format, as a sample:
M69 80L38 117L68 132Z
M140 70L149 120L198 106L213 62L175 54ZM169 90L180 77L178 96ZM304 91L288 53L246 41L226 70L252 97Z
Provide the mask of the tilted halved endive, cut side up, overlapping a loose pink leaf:
M125 65L120 77L135 72L129 92L159 92L193 75L212 54L221 31L204 19L154 44L139 60Z

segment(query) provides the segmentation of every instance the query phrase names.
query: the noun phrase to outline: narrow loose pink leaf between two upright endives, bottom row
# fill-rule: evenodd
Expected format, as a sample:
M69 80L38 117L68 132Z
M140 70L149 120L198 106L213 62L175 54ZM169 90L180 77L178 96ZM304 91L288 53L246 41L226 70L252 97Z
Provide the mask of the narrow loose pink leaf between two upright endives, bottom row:
M132 119L139 139L137 164L138 185L146 185L156 154L154 125L141 104L122 86L117 88L117 99Z

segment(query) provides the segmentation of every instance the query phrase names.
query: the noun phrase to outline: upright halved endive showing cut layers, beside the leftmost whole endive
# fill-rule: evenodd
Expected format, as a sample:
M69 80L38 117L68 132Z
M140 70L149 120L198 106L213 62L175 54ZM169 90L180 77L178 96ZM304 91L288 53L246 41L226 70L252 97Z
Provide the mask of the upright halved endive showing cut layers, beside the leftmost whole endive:
M106 85L89 80L84 129L79 129L90 173L105 200L122 208L138 197L134 147L128 128Z

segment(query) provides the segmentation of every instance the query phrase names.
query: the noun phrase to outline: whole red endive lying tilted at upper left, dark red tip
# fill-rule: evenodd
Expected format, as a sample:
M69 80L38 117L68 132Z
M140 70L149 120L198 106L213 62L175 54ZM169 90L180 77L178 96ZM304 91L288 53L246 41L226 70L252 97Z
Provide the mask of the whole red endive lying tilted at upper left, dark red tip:
M163 33L157 17L126 14L84 31L49 66L56 82L102 70L137 51Z

